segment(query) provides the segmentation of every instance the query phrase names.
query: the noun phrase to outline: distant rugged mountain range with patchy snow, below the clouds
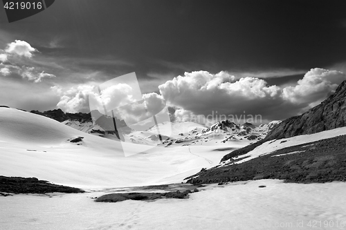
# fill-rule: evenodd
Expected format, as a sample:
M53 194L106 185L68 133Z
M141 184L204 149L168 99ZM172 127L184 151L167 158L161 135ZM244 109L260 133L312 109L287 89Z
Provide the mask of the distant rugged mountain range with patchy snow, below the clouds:
M122 128L122 132L118 133L116 131L114 133L114 131L106 131L99 124L93 124L90 113L64 113L60 109L43 113L31 111L30 113L50 117L84 133L105 137L110 140L118 140L118 135L120 135L120 139L125 142L167 147L196 144L203 146L232 145L233 142L238 141L242 141L244 144L251 144L262 140L275 124L280 123L280 121L274 121L269 124L255 126L248 122L240 125L224 120L206 127L194 122L166 122L158 124L158 127L152 126L147 131L134 131L131 128L124 130ZM126 126L125 122L119 122ZM162 141L158 136L157 128L159 128ZM123 131L126 131L126 133L123 133Z

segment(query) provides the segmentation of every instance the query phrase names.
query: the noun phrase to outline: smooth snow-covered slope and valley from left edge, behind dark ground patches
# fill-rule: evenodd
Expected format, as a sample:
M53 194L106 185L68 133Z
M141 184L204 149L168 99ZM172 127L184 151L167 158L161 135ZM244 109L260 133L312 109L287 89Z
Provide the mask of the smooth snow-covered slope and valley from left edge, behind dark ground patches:
M84 138L70 142L77 137ZM128 146L134 153L147 149ZM224 153L215 148L199 153L188 146L156 147L125 157L120 142L82 133L48 117L0 108L0 175L36 177L82 189L181 182L218 164Z

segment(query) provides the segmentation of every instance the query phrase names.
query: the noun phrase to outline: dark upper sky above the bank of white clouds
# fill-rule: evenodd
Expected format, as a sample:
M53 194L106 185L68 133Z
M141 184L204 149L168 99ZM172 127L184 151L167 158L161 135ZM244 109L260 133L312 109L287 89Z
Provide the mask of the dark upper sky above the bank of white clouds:
M59 0L1 29L46 55L120 59L118 71L84 64L149 77L330 66L346 59L345 15L346 1ZM61 48L43 47L54 39Z

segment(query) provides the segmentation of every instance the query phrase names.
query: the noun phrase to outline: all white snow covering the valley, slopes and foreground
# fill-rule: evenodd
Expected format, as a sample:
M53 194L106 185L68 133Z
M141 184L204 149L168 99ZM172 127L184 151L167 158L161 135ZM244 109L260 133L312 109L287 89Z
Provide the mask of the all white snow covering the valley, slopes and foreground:
M185 138L189 133L192 136L191 130L195 137L210 137L212 129L197 124L176 126L181 126L180 131L170 140ZM141 153L144 145L129 143L129 149L137 154L125 157L120 142L33 113L0 108L0 175L35 177L87 191L0 196L0 229L346 229L343 182L284 184L280 180L256 180L211 184L183 200L97 203L92 199L111 193L113 188L180 183L251 142L239 140L250 136L247 131L257 132L256 138L262 132L251 130L250 125L239 130L233 125L228 128L245 133L235 134L234 140L222 144L220 140L230 136L227 133L221 132L220 139L208 144L172 142L169 148L165 143ZM139 142L138 136L147 140L149 134L150 130L131 138ZM286 142L264 143L248 154L257 157L285 146L342 134L346 134L346 128L291 137ZM77 137L84 138L70 142Z

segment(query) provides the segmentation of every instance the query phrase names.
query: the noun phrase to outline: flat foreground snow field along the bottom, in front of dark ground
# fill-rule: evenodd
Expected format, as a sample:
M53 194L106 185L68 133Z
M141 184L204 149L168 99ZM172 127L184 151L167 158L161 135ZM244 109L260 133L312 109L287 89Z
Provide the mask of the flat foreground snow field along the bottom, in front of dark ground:
M260 185L266 187L260 188ZM189 199L93 202L104 193L0 197L1 229L345 229L346 183L255 180Z

